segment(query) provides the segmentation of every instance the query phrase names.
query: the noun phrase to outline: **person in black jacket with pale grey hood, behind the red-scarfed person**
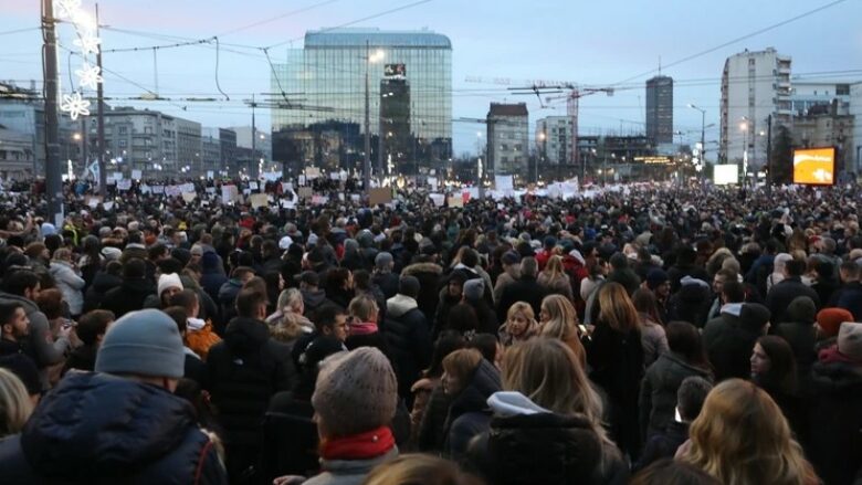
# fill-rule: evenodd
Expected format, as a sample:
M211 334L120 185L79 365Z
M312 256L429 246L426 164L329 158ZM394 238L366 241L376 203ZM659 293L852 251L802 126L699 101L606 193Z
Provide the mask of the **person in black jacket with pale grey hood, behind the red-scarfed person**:
M398 294L386 302L383 334L391 351L399 396L408 399L410 387L431 362L432 340L425 316L416 298L419 280L401 276Z

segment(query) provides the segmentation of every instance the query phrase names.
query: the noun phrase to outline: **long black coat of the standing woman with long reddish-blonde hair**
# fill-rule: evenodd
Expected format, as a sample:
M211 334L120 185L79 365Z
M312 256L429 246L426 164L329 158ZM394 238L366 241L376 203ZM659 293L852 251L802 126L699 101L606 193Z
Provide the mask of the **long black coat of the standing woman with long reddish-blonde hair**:
M643 378L643 345L637 328L623 334L598 321L587 348L590 379L607 393L611 436L623 452L637 453L640 444L638 397Z

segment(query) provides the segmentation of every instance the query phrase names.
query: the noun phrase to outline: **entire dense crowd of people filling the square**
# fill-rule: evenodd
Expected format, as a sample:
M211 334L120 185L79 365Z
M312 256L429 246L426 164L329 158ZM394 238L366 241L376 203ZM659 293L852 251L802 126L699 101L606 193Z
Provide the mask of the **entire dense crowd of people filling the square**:
M0 482L862 484L855 186L233 183L0 192Z

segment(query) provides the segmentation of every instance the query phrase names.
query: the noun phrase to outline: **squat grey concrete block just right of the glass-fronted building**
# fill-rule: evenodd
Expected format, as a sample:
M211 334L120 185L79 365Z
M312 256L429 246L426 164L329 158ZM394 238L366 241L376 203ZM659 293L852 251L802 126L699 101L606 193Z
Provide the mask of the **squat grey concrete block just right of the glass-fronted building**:
M485 173L526 175L529 125L526 103L491 103L487 112L487 165Z

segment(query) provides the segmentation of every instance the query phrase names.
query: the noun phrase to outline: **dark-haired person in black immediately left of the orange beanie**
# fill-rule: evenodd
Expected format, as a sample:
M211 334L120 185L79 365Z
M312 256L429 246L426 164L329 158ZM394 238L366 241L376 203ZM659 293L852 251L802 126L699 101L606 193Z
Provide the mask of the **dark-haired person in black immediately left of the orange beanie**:
M817 307L814 302L807 296L793 298L787 308L787 317L789 320L778 324L775 327L774 335L781 337L790 344L801 384L807 380L811 365L817 360L817 355L814 354Z

